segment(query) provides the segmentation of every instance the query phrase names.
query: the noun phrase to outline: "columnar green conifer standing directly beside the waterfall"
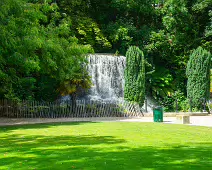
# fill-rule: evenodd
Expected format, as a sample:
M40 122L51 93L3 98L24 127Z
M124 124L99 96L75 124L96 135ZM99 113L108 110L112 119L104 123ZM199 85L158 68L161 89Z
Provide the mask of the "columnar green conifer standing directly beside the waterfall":
M129 47L126 53L124 98L141 106L145 98L145 59L136 46Z

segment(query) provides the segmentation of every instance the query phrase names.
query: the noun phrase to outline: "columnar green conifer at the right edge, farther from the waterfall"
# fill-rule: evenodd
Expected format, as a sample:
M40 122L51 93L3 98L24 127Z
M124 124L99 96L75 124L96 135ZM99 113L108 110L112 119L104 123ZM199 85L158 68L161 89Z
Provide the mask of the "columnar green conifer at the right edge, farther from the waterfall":
M192 100L192 107L201 108L201 101L210 96L211 54L202 47L190 55L186 68L187 97Z

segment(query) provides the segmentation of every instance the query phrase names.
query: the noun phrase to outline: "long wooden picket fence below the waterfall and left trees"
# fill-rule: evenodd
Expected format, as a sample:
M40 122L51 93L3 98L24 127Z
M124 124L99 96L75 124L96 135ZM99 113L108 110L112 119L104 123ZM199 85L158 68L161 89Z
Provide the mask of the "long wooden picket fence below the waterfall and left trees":
M127 101L103 103L77 100L38 102L13 102L0 100L0 117L8 118L65 118L65 117L140 117L143 116L138 104Z

